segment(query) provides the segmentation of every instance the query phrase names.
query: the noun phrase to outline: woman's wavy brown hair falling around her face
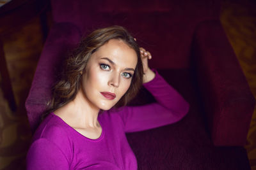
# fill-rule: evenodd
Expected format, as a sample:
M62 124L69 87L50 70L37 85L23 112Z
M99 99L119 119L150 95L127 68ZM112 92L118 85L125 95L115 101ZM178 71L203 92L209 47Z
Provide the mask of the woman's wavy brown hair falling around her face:
M129 32L120 26L97 29L82 39L78 47L65 60L65 66L61 73L60 80L52 88L52 99L48 104L43 118L57 110L61 106L72 101L81 87L81 71L86 71L86 64L93 52L100 46L108 43L110 39L120 39L130 46L137 54L138 62L129 89L124 96L115 104L115 108L125 106L136 96L143 82L143 65L140 57L140 48Z

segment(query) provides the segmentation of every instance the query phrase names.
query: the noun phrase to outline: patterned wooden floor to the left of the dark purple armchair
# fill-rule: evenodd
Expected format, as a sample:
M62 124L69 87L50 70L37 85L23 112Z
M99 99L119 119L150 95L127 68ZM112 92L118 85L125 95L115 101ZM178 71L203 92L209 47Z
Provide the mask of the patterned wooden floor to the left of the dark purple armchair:
M10 110L0 90L0 169L25 169L31 133L24 103L42 47L39 18L4 38L4 52L18 109L16 113Z

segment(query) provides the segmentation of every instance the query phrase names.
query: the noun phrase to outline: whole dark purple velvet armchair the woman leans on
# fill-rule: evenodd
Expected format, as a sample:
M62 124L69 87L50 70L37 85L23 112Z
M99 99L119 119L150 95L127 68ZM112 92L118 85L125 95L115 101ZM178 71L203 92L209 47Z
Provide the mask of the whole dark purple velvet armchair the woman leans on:
M94 29L122 25L152 53L150 67L190 104L180 122L127 134L138 168L250 169L243 146L255 99L221 26L220 3L52 0L54 24L26 100L31 130L69 50ZM142 89L130 104L152 101Z

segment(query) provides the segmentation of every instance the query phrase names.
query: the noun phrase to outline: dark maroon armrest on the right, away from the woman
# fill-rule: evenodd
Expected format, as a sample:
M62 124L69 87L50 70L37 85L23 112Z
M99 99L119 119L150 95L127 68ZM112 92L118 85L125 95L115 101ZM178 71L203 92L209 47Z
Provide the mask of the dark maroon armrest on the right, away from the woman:
M244 146L255 99L219 20L198 25L192 53L212 142Z

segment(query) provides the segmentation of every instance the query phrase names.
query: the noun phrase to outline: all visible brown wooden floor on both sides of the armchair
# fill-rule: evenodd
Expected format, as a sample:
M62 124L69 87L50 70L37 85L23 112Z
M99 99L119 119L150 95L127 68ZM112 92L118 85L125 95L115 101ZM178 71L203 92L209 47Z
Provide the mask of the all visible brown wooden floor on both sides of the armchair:
M256 4L223 1L221 23L256 97L255 9ZM19 107L17 112L13 113L0 90L0 169L25 169L31 133L24 102L43 44L39 18L4 38L4 51ZM253 114L247 145L244 147L252 169L256 170L256 111Z

